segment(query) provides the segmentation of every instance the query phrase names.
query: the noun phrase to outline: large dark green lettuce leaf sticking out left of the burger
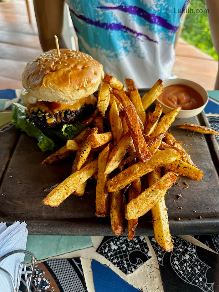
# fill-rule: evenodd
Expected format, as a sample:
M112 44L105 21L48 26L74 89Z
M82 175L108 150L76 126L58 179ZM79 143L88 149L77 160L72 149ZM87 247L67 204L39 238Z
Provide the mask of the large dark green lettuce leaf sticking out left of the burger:
M28 115L24 112L25 106L19 103L12 103L12 121L16 128L26 132L28 136L37 138L38 146L43 151L56 148L55 143L50 138L46 137L42 131L28 118Z

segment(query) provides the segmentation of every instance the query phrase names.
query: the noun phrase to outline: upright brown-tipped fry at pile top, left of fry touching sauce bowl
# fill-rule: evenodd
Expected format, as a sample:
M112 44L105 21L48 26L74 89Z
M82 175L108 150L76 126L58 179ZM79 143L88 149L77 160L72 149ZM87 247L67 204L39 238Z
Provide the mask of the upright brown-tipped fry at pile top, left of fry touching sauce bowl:
M135 106L136 112L144 125L146 122L145 110L143 108L138 89L135 86L135 82L132 79L126 78L125 84L127 86L131 101Z

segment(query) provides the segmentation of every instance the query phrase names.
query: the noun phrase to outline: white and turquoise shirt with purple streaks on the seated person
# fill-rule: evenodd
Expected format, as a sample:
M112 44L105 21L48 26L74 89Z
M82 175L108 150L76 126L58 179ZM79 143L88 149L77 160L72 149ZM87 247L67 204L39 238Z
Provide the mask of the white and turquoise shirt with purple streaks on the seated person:
M189 0L69 0L79 50L138 88L171 78L174 40Z

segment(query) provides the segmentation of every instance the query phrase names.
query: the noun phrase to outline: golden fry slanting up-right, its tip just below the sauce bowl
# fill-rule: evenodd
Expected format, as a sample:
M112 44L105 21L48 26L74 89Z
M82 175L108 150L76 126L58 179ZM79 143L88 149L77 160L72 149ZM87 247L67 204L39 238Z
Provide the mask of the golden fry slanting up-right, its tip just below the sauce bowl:
M181 107L178 107L178 108L174 108L174 109L170 110L168 113L166 113L160 119L160 122L158 123L154 132L151 134L151 137L154 137L162 132L166 132L169 129L171 123L174 122L174 120L175 120L175 118L180 110L181 110Z

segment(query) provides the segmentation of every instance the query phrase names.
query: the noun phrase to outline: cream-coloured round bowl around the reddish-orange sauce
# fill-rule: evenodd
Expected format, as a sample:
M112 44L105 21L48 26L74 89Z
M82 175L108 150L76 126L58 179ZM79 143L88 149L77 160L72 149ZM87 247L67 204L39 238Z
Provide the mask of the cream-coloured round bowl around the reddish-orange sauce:
M204 104L200 108L195 108L195 109L189 109L189 110L182 110L178 113L177 118L191 118L196 116L197 114L201 113L203 109L206 107L206 104L208 103L208 94L206 90L201 87L198 83L195 83L190 80L186 79L181 79L181 78L176 78L176 79L168 79L163 81L163 86L167 87L169 85L175 85L175 84L183 84L190 86L191 88L194 88L203 98ZM172 108L166 106L165 104L161 103L160 100L156 99L155 100L156 104L160 104L163 108L163 113L169 112Z

